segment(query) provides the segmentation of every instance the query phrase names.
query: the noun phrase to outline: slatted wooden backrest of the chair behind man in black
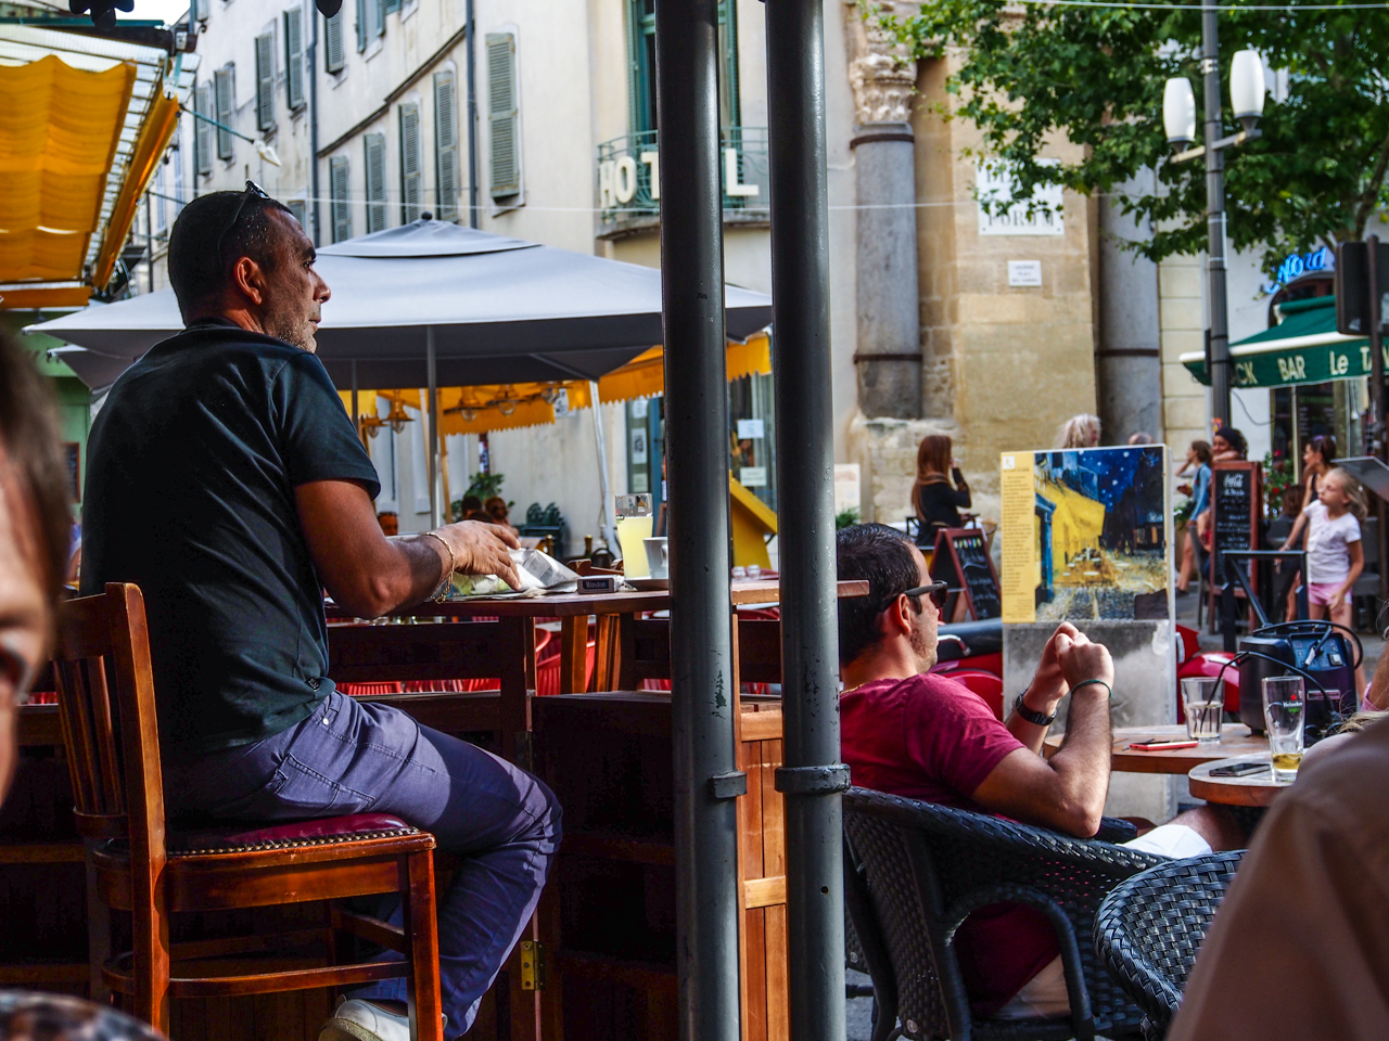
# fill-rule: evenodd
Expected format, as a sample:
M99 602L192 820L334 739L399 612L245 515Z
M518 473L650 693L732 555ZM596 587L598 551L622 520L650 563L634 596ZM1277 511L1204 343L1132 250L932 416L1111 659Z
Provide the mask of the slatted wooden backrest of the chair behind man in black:
M144 598L136 586L63 604L53 655L78 831L128 838L163 865L164 783Z

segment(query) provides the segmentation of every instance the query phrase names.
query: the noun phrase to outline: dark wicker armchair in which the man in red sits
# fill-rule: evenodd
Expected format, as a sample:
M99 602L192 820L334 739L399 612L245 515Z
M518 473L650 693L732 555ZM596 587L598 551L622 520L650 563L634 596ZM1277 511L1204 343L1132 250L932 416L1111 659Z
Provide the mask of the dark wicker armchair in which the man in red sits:
M1104 895L1164 858L867 788L845 795L845 831L861 865L846 870L846 902L874 981L874 1041L893 1037L899 1022L913 1041L1138 1037L1143 1013L1104 972L1090 934ZM1108 819L1101 830L1133 833ZM1003 901L1038 908L1056 929L1070 1016L972 1013L954 933L972 911Z

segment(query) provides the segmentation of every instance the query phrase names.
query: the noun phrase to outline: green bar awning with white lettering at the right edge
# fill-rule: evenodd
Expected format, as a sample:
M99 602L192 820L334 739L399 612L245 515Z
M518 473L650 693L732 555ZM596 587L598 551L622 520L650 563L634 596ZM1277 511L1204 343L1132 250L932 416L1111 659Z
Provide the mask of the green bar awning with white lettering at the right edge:
M1370 340L1336 332L1336 298L1314 297L1282 304L1283 321L1272 329L1231 344L1231 384L1235 387L1290 387L1370 375ZM1383 351L1389 368L1389 347ZM1210 386L1206 354L1179 359L1197 380Z

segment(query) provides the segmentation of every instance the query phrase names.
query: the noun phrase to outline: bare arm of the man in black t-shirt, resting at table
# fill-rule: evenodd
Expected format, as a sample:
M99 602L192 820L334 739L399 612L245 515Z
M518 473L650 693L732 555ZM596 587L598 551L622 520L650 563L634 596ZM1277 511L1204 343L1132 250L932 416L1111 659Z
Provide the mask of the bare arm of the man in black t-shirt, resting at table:
M426 600L443 582L449 550L458 570L500 575L513 587L519 586L507 552L517 544L515 536L496 525L464 522L436 529L438 537L388 539L371 497L356 482L300 484L294 500L319 580L339 605L358 618L376 618Z

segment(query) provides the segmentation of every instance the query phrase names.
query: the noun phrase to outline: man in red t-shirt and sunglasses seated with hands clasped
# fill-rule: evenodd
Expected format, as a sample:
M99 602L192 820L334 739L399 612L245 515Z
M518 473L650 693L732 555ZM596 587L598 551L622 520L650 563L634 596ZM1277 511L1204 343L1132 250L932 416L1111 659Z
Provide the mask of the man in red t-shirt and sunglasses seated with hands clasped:
M896 529L856 525L839 533L838 558L842 580L868 582L867 597L839 601L840 754L853 783L1092 837L1110 787L1108 650L1060 625L1001 723L967 687L926 672L936 662L939 615L921 551ZM1047 726L1068 693L1065 740L1043 759ZM1129 845L1196 856L1242 844L1231 818L1201 809ZM979 1015L1067 1012L1061 959L1039 912L1007 904L975 912L956 948Z

